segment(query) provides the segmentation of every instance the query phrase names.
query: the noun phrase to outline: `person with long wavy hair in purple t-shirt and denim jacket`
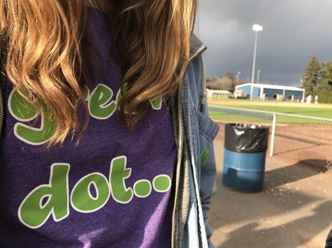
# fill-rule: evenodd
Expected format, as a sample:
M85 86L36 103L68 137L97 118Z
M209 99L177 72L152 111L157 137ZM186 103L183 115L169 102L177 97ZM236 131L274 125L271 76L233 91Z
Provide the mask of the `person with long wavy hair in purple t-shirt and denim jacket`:
M196 0L0 0L0 246L212 247Z

